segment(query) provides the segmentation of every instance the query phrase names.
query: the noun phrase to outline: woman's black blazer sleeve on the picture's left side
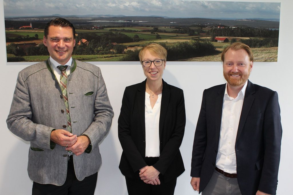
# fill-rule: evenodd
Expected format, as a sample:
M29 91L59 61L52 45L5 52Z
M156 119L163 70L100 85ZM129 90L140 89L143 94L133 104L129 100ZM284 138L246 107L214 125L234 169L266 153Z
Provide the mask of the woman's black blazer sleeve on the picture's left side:
M118 138L123 149L123 154L130 163L133 172L137 172L139 169L147 166L147 163L139 153L131 137L130 117L132 108L127 89L126 87L123 94L121 111L118 118Z

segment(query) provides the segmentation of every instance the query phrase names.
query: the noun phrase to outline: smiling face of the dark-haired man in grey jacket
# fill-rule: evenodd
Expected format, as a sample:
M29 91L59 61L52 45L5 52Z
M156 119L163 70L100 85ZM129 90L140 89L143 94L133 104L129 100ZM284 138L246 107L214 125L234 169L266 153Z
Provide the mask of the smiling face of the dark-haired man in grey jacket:
M47 38L43 43L47 46L50 56L59 64L66 64L75 46L71 27L50 26Z

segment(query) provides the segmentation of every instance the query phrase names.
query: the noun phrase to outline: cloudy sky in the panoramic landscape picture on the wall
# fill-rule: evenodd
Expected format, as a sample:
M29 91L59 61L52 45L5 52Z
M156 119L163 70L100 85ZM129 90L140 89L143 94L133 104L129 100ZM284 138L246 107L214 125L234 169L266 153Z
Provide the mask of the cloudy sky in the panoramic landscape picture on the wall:
M280 18L280 3L167 0L4 0L4 15L160 15L175 18Z

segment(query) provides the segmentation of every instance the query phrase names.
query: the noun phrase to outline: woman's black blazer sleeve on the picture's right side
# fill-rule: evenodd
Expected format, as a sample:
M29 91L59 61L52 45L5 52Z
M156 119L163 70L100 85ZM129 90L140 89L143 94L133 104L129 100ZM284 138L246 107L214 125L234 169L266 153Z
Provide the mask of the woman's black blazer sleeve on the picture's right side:
M180 90L178 94L177 105L173 105L177 107L175 126L170 130L173 133L161 151L159 161L153 165L162 175L164 175L179 151L185 131L186 116L183 90Z

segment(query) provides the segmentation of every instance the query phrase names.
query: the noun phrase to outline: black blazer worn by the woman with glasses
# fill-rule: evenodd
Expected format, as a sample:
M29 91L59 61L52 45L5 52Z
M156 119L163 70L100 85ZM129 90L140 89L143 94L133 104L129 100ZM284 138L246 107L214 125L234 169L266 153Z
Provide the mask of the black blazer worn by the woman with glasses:
M146 80L125 88L120 115L118 137L123 149L119 168L127 177L138 177L145 162L145 89ZM185 129L183 90L163 81L159 118L160 156L153 165L165 182L184 172L179 147Z

